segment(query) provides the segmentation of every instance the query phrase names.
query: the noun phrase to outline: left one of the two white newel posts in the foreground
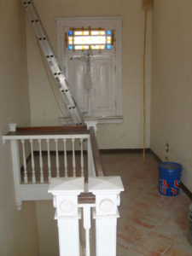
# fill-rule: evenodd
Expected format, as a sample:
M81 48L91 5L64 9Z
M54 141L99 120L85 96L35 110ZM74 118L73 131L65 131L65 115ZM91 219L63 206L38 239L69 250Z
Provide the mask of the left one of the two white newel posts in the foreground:
M54 195L60 256L79 256L78 195L84 191L84 177L52 178L48 192Z

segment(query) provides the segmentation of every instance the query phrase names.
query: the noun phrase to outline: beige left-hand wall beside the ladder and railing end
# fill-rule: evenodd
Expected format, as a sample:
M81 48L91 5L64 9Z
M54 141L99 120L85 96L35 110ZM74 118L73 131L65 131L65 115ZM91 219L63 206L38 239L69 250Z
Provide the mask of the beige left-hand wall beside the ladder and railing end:
M29 125L26 45L20 0L0 2L0 132L9 122ZM15 207L10 145L0 143L0 255L38 256L36 207Z

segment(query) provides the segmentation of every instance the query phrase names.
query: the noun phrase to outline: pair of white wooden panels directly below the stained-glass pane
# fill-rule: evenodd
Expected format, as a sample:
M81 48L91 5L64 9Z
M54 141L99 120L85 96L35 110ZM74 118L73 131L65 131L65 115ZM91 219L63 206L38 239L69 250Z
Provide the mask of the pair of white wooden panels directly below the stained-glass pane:
M87 116L113 116L115 114L115 60L113 55L90 57L91 89L84 86L86 62L72 60L66 63L67 80L79 109Z

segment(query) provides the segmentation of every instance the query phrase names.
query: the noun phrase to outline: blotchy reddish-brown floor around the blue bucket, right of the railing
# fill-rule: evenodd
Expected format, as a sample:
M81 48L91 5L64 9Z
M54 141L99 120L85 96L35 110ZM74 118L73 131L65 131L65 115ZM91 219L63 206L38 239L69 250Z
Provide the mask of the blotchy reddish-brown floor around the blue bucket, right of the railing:
M102 154L106 175L120 175L125 186L118 220L117 256L192 256L189 204L158 192L158 163L150 154Z

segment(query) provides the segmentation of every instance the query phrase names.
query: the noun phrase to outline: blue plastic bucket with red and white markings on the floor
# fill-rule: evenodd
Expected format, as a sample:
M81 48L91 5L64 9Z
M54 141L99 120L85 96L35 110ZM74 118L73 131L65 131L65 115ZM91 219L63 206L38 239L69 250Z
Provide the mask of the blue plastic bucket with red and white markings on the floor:
M159 189L161 195L178 195L182 166L172 162L162 162L159 165Z

